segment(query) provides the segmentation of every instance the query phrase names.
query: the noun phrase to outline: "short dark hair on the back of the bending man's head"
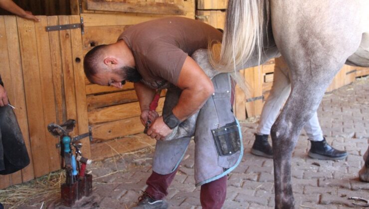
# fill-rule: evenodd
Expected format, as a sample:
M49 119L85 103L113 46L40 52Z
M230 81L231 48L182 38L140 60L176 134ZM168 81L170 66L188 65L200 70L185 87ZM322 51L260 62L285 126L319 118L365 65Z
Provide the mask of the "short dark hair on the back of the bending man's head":
M101 51L108 45L102 44L95 46L92 48L87 54L85 55L85 58L83 59L83 70L85 71L87 79L92 82L92 76L96 75L98 73L97 66L99 66L99 58Z

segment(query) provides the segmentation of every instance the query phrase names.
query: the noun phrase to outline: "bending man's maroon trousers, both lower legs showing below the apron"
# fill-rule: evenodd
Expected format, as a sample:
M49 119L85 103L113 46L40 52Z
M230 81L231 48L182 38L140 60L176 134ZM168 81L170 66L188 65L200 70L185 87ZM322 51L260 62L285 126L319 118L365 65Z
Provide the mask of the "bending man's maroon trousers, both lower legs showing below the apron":
M146 192L155 200L161 200L168 195L167 189L176 176L177 170L167 175L153 173L146 181ZM225 201L227 177L201 185L200 202L203 209L221 209Z

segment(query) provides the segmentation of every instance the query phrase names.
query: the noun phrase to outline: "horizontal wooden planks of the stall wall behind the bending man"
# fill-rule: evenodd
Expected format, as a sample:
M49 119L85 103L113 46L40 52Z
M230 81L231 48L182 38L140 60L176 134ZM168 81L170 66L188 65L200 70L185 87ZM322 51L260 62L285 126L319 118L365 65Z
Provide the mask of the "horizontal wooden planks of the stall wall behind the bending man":
M185 0L183 3L186 8L184 16L194 18L194 0ZM84 55L94 46L116 42L118 36L131 25L166 16L90 10L86 7L86 1L82 5L81 17L85 25L82 36ZM141 111L132 83L124 85L122 90L93 85L87 79L84 84L88 123L93 133L92 159L111 157L155 143L155 140L142 134L144 126L140 121ZM164 96L165 91L162 92L162 97ZM161 98L159 111L163 103L164 98Z

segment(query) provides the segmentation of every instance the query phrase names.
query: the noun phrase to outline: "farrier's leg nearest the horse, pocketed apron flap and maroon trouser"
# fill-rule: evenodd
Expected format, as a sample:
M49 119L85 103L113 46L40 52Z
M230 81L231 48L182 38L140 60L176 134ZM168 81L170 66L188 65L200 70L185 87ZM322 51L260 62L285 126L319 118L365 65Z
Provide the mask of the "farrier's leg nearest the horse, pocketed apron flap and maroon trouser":
M219 74L212 82L214 94L199 111L194 137L194 178L196 186L201 186L203 209L222 208L226 197L226 175L238 165L243 154L239 124L230 103L229 75Z

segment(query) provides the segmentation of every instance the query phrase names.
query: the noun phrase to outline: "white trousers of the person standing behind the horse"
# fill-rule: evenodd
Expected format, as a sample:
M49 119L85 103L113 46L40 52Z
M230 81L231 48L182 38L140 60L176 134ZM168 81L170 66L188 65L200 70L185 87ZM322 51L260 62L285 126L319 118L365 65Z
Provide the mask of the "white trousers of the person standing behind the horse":
M276 58L275 62L276 67L274 68L272 89L263 106L259 126L257 127L256 133L259 135L270 134L270 129L291 92L291 81L287 65L282 57ZM319 124L317 112L306 123L304 129L310 140L323 140L323 131Z

